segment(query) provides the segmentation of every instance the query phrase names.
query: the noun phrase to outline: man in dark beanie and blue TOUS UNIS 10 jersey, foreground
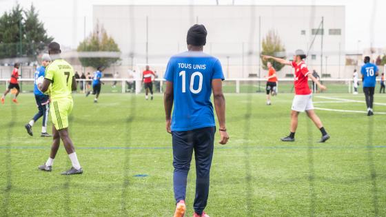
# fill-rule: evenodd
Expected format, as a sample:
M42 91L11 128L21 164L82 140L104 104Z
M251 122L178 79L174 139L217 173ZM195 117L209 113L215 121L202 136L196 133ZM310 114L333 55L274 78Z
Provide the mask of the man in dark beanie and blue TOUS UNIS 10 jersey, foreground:
M229 139L225 127L224 79L218 59L203 53L207 31L193 25L187 32L187 52L172 56L165 72L164 106L166 130L172 134L174 166L174 217L184 216L187 174L194 151L196 160L196 198L194 216L207 216L210 166L214 149L216 124L210 96L219 120L220 144ZM172 107L174 105L173 115Z

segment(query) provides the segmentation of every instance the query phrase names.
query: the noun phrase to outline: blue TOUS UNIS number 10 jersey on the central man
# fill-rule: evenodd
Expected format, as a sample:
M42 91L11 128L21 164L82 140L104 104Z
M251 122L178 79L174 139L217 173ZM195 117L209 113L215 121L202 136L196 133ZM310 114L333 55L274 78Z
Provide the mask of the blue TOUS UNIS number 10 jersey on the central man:
M219 59L203 52L177 54L167 63L165 79L174 90L172 131L216 125L210 96L212 80L224 79Z

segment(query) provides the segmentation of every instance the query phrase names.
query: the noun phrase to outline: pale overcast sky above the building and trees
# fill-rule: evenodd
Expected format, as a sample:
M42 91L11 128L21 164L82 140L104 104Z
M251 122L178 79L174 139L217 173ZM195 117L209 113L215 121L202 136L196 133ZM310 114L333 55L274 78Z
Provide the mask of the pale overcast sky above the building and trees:
M40 19L44 22L48 34L61 44L76 47L83 39L84 19L86 34L92 30L93 5L174 5L174 4L216 4L216 0L0 0L0 13L9 11L17 2L23 8L31 3L39 10ZM230 5L233 0L219 0L220 5ZM270 0L251 1L234 0L237 5L338 5L346 6L346 51L369 48L386 48L386 1L385 0ZM74 5L76 4L76 5ZM74 23L74 16L77 17ZM77 26L77 28L73 28ZM74 31L76 30L76 31ZM358 43L358 41L360 41Z

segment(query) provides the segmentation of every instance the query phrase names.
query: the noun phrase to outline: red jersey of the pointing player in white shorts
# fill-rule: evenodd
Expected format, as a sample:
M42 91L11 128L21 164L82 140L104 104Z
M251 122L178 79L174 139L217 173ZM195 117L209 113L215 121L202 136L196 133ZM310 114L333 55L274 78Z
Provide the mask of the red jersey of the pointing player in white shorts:
M295 68L295 94L296 95L308 95L311 94L311 90L308 87L308 74L307 65L304 61L296 63L292 61L292 67Z

